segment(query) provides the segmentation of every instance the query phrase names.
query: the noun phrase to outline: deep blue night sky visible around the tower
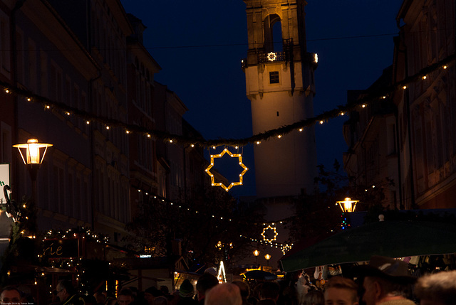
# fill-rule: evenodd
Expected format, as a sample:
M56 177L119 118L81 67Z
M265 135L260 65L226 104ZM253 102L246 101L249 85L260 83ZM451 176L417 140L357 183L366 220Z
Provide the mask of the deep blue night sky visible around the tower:
M366 89L393 63L393 37L399 31L395 16L402 0L307 2L307 50L318 53L317 115L346 105L347 90ZM187 105L184 118L206 139L252 136L252 113L241 68L241 60L247 57L244 1L121 3L127 13L147 26L144 46L162 68L155 80L167 85ZM318 164L332 168L334 159L342 164L347 150L342 134L346 119L338 117L316 126ZM244 186L236 186L230 193L253 196L252 145L242 152L251 171L244 176Z

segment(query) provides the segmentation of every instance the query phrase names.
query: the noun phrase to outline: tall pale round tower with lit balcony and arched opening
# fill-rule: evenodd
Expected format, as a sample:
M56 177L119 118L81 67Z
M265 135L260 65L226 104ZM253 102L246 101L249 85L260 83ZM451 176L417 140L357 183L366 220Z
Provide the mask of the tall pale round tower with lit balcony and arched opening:
M243 61L254 134L314 116L316 55L307 53L304 0L244 0L249 50ZM257 198L312 193L314 127L255 145Z

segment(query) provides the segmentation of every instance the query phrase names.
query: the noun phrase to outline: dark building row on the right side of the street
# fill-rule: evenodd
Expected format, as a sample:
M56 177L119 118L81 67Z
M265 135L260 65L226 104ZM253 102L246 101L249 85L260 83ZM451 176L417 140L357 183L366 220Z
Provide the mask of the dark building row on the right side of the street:
M383 185L385 207L455 208L455 3L405 0L396 21L383 83L395 90L351 113L344 166L358 186Z

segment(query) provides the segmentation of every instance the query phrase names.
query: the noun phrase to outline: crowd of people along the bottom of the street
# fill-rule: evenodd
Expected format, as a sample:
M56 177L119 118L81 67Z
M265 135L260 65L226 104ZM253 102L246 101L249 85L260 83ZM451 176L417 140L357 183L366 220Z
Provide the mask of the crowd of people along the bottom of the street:
M413 277L408 263L390 257L371 257L368 264L353 269L353 279L338 275L323 287L311 284L300 274L294 293L280 282L265 281L254 287L247 282L219 284L211 272L197 280L196 289L185 279L179 289L170 293L167 287L150 287L145 291L124 288L117 298L98 291L90 299L77 293L72 283L62 280L56 285L53 305L456 305L456 270ZM289 288L289 287L288 287ZM301 287L302 288L302 287ZM0 304L34 304L29 295L16 287L4 287Z

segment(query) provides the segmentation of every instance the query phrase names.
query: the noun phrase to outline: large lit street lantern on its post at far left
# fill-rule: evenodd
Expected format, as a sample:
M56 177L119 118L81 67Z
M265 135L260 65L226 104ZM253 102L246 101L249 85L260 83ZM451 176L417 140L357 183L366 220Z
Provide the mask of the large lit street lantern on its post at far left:
M30 174L32 200L36 200L36 175L50 146L52 144L39 143L37 139L28 139L27 143L13 145L19 150Z

